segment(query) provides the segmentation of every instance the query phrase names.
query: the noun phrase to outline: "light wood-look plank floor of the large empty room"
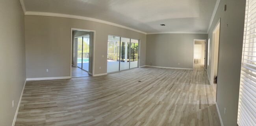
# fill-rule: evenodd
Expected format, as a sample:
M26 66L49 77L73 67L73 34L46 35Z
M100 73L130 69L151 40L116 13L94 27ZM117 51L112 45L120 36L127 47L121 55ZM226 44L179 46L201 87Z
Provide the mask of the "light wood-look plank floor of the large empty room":
M28 81L15 126L221 126L216 85L194 67Z

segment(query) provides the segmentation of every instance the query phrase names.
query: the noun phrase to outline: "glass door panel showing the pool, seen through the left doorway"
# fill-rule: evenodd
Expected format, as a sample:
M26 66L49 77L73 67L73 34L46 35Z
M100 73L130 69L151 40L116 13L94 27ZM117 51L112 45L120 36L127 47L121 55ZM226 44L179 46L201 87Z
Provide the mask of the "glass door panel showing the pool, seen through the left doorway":
M82 69L89 71L89 47L90 47L90 36L86 35L83 37L83 66Z

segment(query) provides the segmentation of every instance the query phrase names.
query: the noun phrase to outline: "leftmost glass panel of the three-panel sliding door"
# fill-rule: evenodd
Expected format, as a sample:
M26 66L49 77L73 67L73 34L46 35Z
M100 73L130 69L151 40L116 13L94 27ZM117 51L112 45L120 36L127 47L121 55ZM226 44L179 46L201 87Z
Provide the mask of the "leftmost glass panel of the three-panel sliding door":
M119 71L120 37L108 36L108 63L107 72Z

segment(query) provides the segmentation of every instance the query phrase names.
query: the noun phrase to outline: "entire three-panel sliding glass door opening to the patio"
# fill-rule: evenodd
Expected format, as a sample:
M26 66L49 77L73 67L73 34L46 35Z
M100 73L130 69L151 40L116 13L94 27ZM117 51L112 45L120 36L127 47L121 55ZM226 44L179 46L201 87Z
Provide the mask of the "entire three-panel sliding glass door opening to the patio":
M108 36L107 72L138 67L139 40Z

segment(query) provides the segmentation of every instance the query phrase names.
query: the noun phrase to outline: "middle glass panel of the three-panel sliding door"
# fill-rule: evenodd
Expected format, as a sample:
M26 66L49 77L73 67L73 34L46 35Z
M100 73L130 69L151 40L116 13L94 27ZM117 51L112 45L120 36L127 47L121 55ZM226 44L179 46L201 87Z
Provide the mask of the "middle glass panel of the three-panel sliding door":
M120 70L129 69L130 61L130 38L121 37L120 45Z

